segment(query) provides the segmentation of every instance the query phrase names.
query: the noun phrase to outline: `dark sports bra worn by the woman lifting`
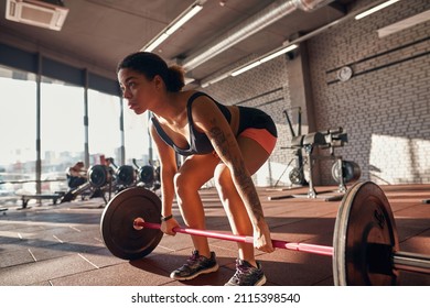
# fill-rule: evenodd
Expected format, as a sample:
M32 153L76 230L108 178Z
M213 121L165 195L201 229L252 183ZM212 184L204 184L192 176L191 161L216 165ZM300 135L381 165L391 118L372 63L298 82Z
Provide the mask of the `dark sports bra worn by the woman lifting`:
M209 99L212 99L216 103L216 106L219 108L221 112L224 114L224 117L226 118L228 123L232 120L232 114L230 114L230 111L228 110L227 107L225 107L224 105L218 103L212 97L209 97L208 95L206 95L204 92L195 92L195 94L193 94L190 97L190 99L189 99L189 101L186 103L186 114L187 114L187 118L189 118L190 142L191 142L191 144L189 145L189 148L181 148L181 147L176 146L173 143L173 141L170 139L170 136L165 133L165 131L161 128L160 122L154 117L151 117L151 121L154 124L157 133L159 134L159 136L168 145L173 147L173 150L178 154L183 155L183 156L190 156L190 155L193 155L193 154L208 154L208 153L214 151L214 147L212 146L212 143L211 143L209 139L206 136L205 133L202 133L202 132L197 131L195 129L194 122L193 122L193 116L192 116L192 112L191 112L191 106L192 106L193 101L196 98L201 97L201 96L206 96Z

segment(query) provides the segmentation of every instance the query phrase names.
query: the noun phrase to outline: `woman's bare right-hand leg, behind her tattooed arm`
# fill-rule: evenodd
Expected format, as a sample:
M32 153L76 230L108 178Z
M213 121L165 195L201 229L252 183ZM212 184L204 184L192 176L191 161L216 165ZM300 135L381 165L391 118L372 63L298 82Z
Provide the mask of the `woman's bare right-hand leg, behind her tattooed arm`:
M258 142L249 138L239 136L238 144L249 174L255 174L265 164L270 154ZM233 233L252 237L252 226L248 212L235 188L228 167L222 163L216 166L215 183ZM239 258L249 262L252 266L257 266L254 245L237 244Z

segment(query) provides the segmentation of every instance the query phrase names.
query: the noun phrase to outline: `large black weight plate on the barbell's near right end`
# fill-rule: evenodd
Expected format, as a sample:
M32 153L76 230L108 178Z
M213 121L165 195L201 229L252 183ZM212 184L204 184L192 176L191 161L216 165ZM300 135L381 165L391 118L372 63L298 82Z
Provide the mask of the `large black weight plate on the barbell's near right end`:
M399 242L391 208L379 186L356 183L345 194L334 227L335 285L396 285L393 253Z

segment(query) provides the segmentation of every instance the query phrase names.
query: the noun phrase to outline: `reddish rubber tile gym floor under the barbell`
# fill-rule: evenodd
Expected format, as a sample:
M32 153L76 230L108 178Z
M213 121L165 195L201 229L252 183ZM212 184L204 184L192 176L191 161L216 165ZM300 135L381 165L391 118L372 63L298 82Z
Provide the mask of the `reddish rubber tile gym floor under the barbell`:
M394 211L400 250L430 255L430 185L381 186ZM272 239L332 245L340 200L335 187L316 187L316 199L276 196L307 193L307 188L258 188ZM325 193L324 193L325 191ZM329 191L329 193L327 193ZM207 229L229 232L224 209L213 188L202 189ZM276 200L269 200L270 198ZM164 235L142 260L126 261L105 248L99 222L103 199L60 205L9 206L0 213L0 285L2 286L175 286L224 285L235 272L236 243L209 239L219 271L189 282L175 282L171 271L192 252L190 235ZM0 205L1 206L1 205ZM174 206L175 217L180 219ZM268 286L332 286L330 256L276 250L257 252ZM430 275L401 272L399 285L430 285Z

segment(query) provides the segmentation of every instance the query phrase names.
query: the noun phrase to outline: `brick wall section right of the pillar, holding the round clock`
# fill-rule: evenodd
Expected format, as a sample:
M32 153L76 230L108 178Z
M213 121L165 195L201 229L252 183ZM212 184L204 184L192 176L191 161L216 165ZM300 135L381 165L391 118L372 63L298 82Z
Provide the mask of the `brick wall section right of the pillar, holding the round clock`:
M309 41L318 128L337 123L348 131L350 143L340 152L361 165L363 179L430 182L430 23L384 38L376 32L429 9L426 0L400 1L384 18L352 20ZM321 50L324 56L316 56ZM411 58L418 54L424 55ZM357 76L327 85L335 72L326 72L346 64ZM323 182L330 183L326 170Z

